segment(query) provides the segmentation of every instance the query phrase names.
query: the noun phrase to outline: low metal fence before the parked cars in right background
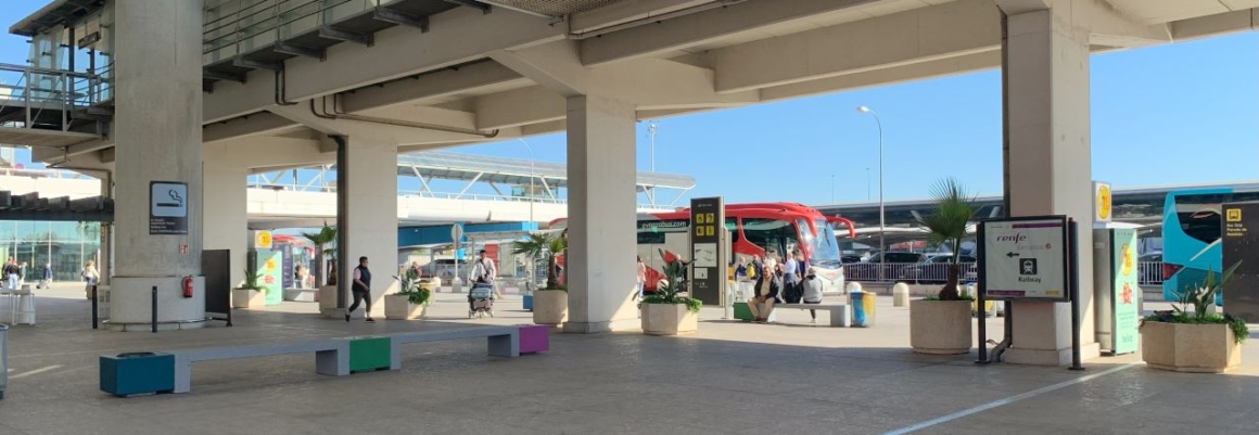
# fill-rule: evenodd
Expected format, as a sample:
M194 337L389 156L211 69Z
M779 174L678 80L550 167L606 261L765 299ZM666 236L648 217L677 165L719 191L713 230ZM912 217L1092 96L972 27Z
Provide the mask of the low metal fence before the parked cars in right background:
M978 278L978 268L974 263L961 263L961 280L968 282ZM910 284L943 284L948 278L948 264L946 263L849 263L844 265L844 279L850 282L879 282L879 269L883 268L884 280L903 282ZM1137 265L1137 283L1142 285L1157 285L1163 282L1163 263L1142 262Z

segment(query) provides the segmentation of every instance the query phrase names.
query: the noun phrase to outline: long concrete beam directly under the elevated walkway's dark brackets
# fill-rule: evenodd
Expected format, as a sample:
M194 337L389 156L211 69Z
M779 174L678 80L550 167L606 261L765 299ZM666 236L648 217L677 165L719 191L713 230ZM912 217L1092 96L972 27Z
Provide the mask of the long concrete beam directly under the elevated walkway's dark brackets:
M421 34L405 26L375 34L375 45L364 49L337 44L327 49L327 60L286 60L286 96L303 101L350 91L423 72L483 59L497 49L515 49L564 38L563 26L524 14L490 14L461 8L432 18L433 29ZM495 29L486 33L485 29ZM423 55L418 55L423 54ZM206 122L257 112L274 104L274 74L252 74L247 84L215 85L204 97Z

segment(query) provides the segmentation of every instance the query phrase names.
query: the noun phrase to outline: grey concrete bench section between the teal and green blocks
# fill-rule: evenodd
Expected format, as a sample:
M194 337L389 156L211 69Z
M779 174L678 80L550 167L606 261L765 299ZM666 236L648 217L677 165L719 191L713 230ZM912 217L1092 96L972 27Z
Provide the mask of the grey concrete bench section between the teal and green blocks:
M269 357L306 352L315 352L315 372L330 376L350 375L350 342L346 339L206 347L170 352L170 355L175 356L174 392L189 392L193 390L193 362L196 361Z

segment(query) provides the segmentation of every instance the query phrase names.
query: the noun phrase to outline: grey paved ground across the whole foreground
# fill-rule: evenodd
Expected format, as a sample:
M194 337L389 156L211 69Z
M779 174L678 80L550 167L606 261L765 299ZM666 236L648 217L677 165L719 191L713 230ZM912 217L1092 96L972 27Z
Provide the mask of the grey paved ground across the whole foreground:
M193 392L118 399L97 386L97 356L266 343L467 324L528 323L519 297L499 318L462 318L439 294L429 321L345 323L315 304L237 311L201 331L91 331L77 288L43 292L39 324L10 331L0 434L1254 434L1259 351L1230 375L1148 370L1136 356L1088 371L976 366L973 356L908 348L908 309L890 298L866 329L721 321L705 311L689 337L554 334L551 351L515 360L483 341L413 344L400 372L326 377L308 356L203 362ZM1148 308L1148 307L1147 307ZM8 307L0 304L8 314ZM825 316L825 314L820 314ZM8 321L8 316L4 316ZM825 324L825 321L822 321ZM1001 321L990 321L1000 332ZM1132 365L1138 362L1137 365ZM964 415L958 415L959 412ZM933 424L933 420L935 421Z

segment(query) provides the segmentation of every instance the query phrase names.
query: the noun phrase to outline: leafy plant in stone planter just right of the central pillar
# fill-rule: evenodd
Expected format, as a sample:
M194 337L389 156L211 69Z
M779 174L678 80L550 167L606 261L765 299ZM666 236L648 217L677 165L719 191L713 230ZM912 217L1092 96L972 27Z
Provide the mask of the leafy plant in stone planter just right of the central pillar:
M665 251L660 251L665 258ZM648 336L676 336L699 329L703 302L682 295L690 294L687 272L690 263L674 259L665 264L665 279L656 285L656 293L642 298L642 332Z

